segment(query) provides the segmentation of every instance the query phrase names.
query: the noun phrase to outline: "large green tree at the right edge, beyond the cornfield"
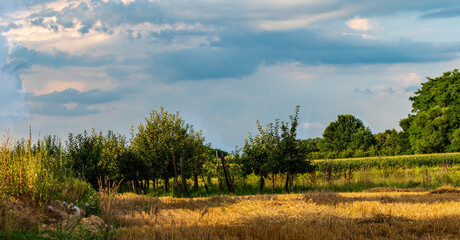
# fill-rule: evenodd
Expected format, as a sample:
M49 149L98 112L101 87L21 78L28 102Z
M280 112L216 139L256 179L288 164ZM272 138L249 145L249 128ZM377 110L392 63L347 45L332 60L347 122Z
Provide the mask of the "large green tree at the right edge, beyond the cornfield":
M402 120L416 153L458 151L460 128L460 73L457 69L427 78L410 97L412 115Z

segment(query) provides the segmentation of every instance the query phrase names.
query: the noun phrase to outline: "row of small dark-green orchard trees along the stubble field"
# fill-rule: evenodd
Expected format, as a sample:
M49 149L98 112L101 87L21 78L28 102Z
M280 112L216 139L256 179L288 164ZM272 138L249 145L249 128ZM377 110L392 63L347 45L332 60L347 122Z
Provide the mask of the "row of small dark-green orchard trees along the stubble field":
M199 186L207 192L214 188L214 192L235 193L237 183L242 183L239 189L244 191L246 178L255 174L260 192L266 178L274 188L277 176L284 177L284 189L290 192L297 174L313 170L296 138L298 113L297 106L290 122L276 120L266 127L257 122L259 133L249 135L244 147L231 154L211 148L179 113L163 108L153 110L145 122L132 127L129 140L113 131L104 134L92 129L69 133L64 144L56 136L45 136L36 144L20 140L11 152L29 152L47 162L45 172L77 177L95 189L103 183L101 179L108 179L109 184L122 182L125 190L137 193L172 191L189 196Z

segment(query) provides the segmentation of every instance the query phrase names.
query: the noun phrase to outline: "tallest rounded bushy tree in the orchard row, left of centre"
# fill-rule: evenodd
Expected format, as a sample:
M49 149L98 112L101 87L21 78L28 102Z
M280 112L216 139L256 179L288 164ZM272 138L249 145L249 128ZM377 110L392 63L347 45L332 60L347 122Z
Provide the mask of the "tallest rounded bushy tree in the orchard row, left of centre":
M149 166L150 178L163 179L165 190L169 191L169 179L174 178L174 187L178 190L181 175L182 189L187 194L185 178L194 175L197 184L201 162L207 159L201 132L194 132L178 112L172 114L163 107L160 111L153 110L137 130L137 133L132 130L131 146L137 157Z

